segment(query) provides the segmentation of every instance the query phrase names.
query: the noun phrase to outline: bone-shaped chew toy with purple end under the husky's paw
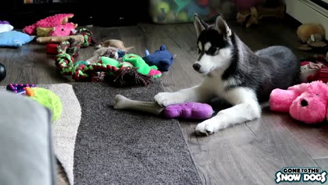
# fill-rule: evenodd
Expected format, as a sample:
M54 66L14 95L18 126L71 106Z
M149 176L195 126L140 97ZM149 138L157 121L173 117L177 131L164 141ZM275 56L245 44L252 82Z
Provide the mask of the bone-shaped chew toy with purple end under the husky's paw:
M122 95L115 96L114 108L118 110L139 110L156 115L164 113L167 118L182 119L208 119L213 114L212 107L206 103L182 103L163 108L155 102L135 101Z

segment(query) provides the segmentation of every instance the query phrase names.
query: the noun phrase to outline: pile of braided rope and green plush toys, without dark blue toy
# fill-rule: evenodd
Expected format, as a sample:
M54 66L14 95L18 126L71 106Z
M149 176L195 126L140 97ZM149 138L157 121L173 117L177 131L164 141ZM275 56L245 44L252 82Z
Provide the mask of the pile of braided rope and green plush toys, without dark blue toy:
M100 82L106 77L106 81L114 86L148 86L152 79L162 75L156 66L148 65L141 56L113 47L100 47L92 58L75 62L79 47L72 48L74 43L71 38L57 46L55 64L61 75L71 76L77 82Z

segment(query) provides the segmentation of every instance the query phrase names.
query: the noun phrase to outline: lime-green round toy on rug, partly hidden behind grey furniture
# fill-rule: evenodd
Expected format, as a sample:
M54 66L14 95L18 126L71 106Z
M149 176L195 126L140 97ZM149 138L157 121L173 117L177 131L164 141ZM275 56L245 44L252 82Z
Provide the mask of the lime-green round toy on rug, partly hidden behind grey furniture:
M53 121L56 121L61 116L63 106L60 98L51 90L45 88L25 88L26 95L34 99L42 106L45 106L53 113Z

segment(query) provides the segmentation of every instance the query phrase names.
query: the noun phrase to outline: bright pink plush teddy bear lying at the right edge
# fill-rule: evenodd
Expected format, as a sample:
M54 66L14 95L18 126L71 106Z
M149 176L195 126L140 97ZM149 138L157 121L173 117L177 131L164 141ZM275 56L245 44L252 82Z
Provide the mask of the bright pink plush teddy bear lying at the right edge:
M289 112L298 121L320 123L328 118L328 86L314 81L287 90L276 88L271 92L269 106L273 111Z

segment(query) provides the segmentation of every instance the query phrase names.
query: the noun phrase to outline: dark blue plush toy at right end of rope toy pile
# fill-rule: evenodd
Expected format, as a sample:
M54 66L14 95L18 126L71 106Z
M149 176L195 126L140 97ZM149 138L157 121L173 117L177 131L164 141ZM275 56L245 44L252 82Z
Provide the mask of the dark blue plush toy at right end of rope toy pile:
M149 66L157 66L159 71L169 71L169 66L174 62L174 56L171 52L166 50L165 45L161 45L159 50L156 50L152 54L146 50L146 56L143 57L143 60L145 60Z

